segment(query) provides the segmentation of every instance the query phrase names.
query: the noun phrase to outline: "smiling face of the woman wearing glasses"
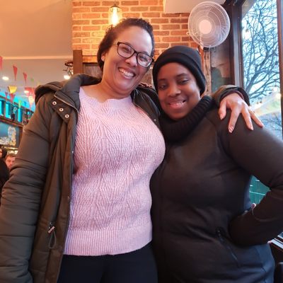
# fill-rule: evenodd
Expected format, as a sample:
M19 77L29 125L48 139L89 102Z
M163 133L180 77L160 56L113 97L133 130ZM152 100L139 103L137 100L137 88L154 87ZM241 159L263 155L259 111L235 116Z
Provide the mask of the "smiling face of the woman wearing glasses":
M108 86L112 93L122 98L127 97L136 88L146 74L148 68L137 64L137 56L124 58L117 53L117 42L123 42L131 46L137 52L151 54L151 36L143 28L131 26L117 35L115 42L108 52L102 54L104 61L103 78L101 83Z

